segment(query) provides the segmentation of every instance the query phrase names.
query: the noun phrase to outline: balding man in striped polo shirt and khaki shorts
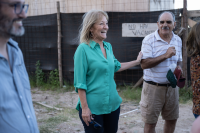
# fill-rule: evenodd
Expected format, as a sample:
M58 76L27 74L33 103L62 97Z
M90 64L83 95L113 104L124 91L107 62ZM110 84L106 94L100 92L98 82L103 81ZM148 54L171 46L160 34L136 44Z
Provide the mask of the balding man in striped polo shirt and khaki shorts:
M164 133L173 133L179 117L179 88L172 88L166 75L171 64L181 69L182 41L172 31L176 26L172 12L162 12L157 25L158 30L146 36L142 42L144 82L141 115L145 123L144 133L155 133L160 113L165 120Z

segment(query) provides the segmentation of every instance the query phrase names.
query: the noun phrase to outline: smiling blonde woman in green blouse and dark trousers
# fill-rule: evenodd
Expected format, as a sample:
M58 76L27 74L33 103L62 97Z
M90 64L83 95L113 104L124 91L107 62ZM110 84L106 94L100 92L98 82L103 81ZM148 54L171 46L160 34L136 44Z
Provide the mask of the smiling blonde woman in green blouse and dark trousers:
M83 16L80 45L74 55L74 87L79 94L76 109L86 133L116 133L122 99L117 93L114 73L140 64L137 60L120 63L112 46L105 42L108 15L91 10Z

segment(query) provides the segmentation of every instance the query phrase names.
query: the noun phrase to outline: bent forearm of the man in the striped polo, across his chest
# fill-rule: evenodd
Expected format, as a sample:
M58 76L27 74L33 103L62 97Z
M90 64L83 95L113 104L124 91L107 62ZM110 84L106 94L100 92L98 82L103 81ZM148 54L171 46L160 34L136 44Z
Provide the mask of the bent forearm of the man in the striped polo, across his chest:
M157 66L164 60L166 60L165 54L158 56L156 58L148 58L148 59L142 59L141 60L141 67L142 69L148 69Z

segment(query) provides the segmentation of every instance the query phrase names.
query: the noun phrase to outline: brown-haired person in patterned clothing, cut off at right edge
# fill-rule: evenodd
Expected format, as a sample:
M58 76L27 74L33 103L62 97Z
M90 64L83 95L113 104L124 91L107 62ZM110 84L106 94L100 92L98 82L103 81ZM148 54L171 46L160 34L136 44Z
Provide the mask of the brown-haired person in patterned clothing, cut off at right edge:
M187 53L190 59L190 75L193 92L193 114L200 115L200 22L195 24L187 38Z

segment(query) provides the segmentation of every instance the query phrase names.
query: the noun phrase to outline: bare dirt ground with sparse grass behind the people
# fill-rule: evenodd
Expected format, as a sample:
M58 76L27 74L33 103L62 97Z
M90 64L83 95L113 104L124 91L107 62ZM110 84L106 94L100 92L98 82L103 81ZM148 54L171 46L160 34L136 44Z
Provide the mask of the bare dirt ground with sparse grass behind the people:
M32 99L41 133L84 133L84 128L75 110L78 94L73 92L52 92L32 89ZM49 109L37 102L52 107L62 108L63 111ZM180 104L180 114L177 121L175 133L190 133L194 116L192 114L192 102ZM138 110L137 110L138 109ZM144 123L141 119L139 104L125 101L121 104L121 115L119 118L118 133L143 133ZM164 120L159 117L156 133L163 133Z

